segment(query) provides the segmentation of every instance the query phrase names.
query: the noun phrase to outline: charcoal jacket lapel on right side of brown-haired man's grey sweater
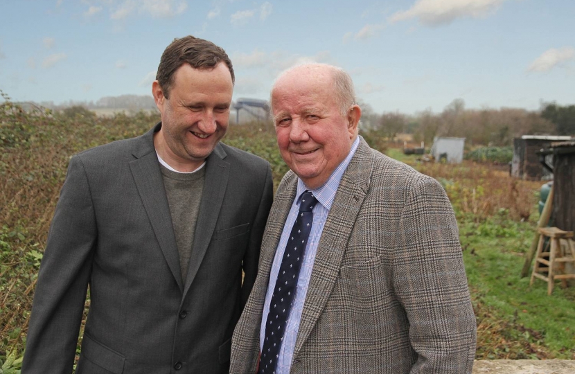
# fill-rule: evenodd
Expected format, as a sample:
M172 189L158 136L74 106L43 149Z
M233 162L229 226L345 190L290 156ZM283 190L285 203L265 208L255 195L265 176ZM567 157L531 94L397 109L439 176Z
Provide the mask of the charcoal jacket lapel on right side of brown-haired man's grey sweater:
M198 212L195 225L188 277L184 285L184 296L188 292L197 270L200 268L210 244L215 224L218 222L229 177L229 163L224 161L226 156L226 152L218 144L206 159L206 181L204 181L202 202L200 203L200 211Z

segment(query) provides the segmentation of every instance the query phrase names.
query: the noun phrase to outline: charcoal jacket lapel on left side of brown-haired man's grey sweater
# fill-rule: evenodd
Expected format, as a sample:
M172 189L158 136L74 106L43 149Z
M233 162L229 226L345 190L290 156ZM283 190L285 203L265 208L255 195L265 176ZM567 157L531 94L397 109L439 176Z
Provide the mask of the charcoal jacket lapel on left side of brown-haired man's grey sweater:
M172 216L168 206L168 197L163 186L161 170L154 150L154 132L160 128L160 124L141 136L136 149L132 153L136 159L130 162L130 170L136 183L136 188L142 200L152 229L156 234L161 251L168 267L179 286L184 290L182 283L182 271L179 268L179 254L177 251Z

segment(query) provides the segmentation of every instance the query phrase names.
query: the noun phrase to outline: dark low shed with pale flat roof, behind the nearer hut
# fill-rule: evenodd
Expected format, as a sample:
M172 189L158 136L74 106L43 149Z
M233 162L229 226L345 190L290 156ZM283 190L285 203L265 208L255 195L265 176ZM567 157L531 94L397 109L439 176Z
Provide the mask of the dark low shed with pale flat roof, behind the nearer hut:
M552 179L549 170L543 168L536 153L544 148L549 148L551 143L558 141L570 141L571 136L539 136L524 135L513 139L513 161L511 161L511 176L530 181ZM553 154L548 155L547 163L551 165Z

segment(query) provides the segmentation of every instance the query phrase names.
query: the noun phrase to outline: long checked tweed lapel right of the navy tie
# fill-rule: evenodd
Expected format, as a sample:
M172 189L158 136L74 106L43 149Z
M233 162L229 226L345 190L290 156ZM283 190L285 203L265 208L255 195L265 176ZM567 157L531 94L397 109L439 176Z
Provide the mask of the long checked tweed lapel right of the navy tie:
M339 183L324 231L321 233L301 314L294 357L297 357L308 339L333 290L348 239L369 190L372 169L373 157L369 146L360 138L360 145Z

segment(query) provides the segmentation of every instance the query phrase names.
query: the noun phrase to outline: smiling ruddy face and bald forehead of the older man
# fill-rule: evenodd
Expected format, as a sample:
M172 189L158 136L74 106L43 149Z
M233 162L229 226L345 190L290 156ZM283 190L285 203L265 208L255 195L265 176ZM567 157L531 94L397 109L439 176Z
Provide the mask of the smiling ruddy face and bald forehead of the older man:
M331 72L301 66L281 76L272 113L281 157L308 188L323 185L355 140L353 119L342 116Z

